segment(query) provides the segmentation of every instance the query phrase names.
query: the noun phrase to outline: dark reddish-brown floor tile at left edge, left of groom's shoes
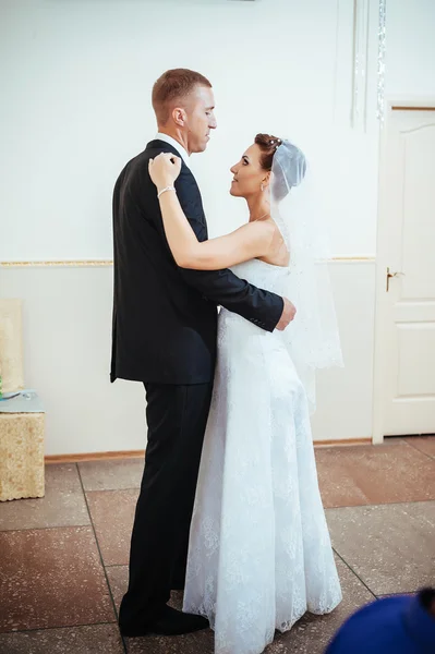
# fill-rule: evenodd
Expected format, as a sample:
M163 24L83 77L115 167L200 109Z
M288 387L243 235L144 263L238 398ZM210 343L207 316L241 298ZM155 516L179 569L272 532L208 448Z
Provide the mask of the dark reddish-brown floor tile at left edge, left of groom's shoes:
M90 526L0 533L0 631L114 620Z

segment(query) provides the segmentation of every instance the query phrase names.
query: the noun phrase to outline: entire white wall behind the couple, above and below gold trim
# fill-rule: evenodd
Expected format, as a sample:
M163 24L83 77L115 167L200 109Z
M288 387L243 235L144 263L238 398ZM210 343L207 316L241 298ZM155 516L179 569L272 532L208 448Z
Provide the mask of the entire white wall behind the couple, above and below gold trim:
M152 84L198 69L219 123L193 158L212 234L245 218L228 168L256 132L309 156L333 254L353 259L331 265L347 367L319 376L314 436L371 436L377 4L364 131L350 121L352 0L0 0L0 261L110 259L112 186L155 133ZM434 92L434 7L388 0L388 94ZM144 446L141 386L108 380L111 277L109 266L0 267L0 295L24 300L26 383L47 407L48 453Z

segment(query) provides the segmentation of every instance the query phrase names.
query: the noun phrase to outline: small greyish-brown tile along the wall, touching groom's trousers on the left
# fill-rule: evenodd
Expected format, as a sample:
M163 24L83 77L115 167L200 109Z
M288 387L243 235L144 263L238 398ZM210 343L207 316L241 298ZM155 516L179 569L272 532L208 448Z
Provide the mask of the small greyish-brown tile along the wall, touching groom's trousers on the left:
M144 458L78 463L85 491L121 491L140 488Z

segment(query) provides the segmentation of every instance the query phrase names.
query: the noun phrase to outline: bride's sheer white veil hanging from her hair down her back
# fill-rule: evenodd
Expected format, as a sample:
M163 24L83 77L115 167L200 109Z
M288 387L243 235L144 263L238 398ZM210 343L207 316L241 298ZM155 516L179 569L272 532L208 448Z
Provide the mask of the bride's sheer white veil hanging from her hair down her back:
M330 252L310 172L304 179L305 156L289 141L279 143L271 167L270 216L290 252L285 294L297 307L283 338L313 412L315 371L343 365L328 271ZM302 180L301 189L297 189Z

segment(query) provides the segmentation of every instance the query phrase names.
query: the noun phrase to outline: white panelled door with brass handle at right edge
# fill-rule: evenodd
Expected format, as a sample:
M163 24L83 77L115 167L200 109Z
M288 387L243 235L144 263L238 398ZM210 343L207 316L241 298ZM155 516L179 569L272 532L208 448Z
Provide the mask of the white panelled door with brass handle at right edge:
M435 433L435 102L383 135L374 441Z

